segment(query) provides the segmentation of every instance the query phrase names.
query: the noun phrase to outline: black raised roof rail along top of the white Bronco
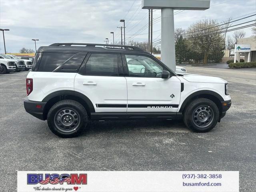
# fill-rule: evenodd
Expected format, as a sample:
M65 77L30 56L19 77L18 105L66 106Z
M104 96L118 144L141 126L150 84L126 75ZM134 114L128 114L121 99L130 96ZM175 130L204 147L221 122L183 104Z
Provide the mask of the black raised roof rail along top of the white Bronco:
M51 44L50 46L72 46L72 45L86 45L88 47L95 47L95 46L105 46L105 48L115 48L115 47L120 47L124 48L126 50L138 50L138 51L143 51L141 48L138 48L136 46L128 46L128 45L111 45L111 44L94 44L94 43L54 43Z

